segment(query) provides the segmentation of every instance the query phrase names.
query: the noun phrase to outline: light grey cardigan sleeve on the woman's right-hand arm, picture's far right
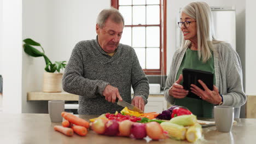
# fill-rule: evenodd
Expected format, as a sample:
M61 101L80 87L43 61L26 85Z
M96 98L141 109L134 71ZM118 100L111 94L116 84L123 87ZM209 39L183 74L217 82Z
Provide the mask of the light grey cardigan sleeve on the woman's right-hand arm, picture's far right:
M227 93L223 94L223 105L240 107L246 103L246 94L243 91L242 66L238 54L226 44L229 57L226 58L226 85Z

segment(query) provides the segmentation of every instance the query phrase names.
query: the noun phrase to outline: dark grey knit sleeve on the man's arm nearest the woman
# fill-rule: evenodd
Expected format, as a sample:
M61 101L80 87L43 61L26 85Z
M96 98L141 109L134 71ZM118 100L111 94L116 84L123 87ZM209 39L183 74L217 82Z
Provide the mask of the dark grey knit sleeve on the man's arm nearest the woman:
M139 64L137 55L133 49L131 50L131 56L133 61L131 69L131 83L134 91L134 96L142 97L145 104L147 104L149 94L148 78L144 74L144 71L142 70L141 65Z

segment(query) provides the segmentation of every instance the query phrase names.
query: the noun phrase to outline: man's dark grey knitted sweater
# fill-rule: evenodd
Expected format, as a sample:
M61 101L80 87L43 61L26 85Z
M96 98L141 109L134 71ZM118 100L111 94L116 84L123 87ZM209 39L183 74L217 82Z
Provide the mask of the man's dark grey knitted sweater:
M75 45L62 77L63 90L79 95L78 113L101 115L122 110L123 107L108 102L102 95L109 84L117 87L128 103L131 103L132 86L134 95L142 97L147 104L148 78L131 46L119 44L114 56L110 57L97 39L80 41Z

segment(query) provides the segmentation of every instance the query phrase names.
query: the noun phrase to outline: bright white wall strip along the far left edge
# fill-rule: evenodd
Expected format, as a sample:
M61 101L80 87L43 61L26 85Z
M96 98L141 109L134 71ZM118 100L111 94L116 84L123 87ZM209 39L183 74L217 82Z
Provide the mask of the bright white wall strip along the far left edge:
M4 0L2 6L3 112L21 113L22 3Z

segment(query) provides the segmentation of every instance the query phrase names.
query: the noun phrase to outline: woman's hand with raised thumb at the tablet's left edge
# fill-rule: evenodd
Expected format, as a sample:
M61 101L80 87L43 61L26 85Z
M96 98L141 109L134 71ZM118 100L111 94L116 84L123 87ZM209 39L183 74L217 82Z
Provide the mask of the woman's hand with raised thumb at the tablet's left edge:
M181 74L179 75L179 79L169 88L169 95L177 99L185 98L188 95L188 91L186 91L182 85L179 85L182 79L183 75Z

